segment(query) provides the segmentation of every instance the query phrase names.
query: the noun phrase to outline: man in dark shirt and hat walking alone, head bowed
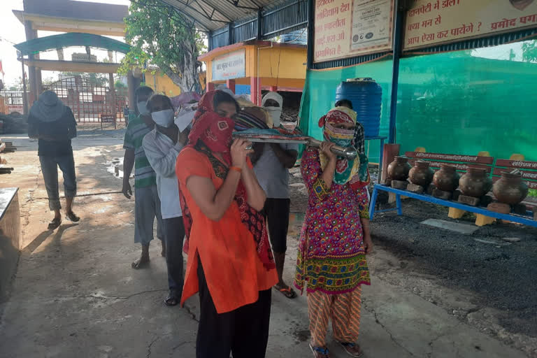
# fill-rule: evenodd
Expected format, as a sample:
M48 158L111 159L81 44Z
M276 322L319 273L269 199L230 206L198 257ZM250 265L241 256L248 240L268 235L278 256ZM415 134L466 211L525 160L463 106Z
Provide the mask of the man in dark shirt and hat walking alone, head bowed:
M76 137L76 120L71 111L58 99L55 92L45 91L31 106L28 116L28 136L38 142L39 162L48 194L48 206L54 211L54 219L48 224L54 230L62 224L59 203L58 166L64 173L66 217L78 222L80 217L73 213L76 196L75 160L71 139Z

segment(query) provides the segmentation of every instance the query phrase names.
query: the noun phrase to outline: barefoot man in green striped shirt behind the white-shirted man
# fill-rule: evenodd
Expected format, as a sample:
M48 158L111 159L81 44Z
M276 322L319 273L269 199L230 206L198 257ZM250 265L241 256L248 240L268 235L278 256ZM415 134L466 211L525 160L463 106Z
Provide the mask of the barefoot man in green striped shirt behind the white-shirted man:
M143 268L149 264L149 243L153 239L153 224L157 217L157 237L162 241L162 256L166 256L166 244L162 239L162 217L160 200L157 192L157 174L152 169L142 147L143 137L155 128L155 122L147 108L147 101L153 94L150 87L138 87L136 90L136 110L138 117L129 120L123 148L123 189L127 199L131 199L132 189L129 183L134 167L134 242L142 245L142 254L131 264L132 268Z

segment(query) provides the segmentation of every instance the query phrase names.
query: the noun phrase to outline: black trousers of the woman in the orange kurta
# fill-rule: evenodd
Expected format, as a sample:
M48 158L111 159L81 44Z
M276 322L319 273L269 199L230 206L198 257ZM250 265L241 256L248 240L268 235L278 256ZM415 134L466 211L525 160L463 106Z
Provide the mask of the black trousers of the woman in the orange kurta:
M257 302L217 313L198 262L199 317L196 358L264 358L271 319L271 290L259 291ZM233 289L233 282L229 282Z

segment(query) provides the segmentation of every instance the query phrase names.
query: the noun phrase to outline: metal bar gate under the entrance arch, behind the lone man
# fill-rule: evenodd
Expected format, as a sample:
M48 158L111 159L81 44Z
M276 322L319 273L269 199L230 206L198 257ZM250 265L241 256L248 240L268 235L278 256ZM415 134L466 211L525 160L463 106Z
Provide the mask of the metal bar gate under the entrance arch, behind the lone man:
M101 122L101 115L115 115L124 122L123 109L128 104L127 88L115 89L99 86L80 76L62 78L45 87L56 92L58 98L73 110L77 122Z

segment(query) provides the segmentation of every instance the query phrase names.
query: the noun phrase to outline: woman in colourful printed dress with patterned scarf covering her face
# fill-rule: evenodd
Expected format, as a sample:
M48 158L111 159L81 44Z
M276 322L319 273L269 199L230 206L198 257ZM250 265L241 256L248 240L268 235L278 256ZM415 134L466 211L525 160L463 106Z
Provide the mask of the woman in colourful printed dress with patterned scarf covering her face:
M357 114L345 107L319 121L324 128L320 149L308 148L301 173L308 187L308 211L301 231L294 284L308 294L310 348L329 358L325 336L332 320L334 338L352 357L361 357L359 334L361 285L369 285L366 254L369 233L367 158L336 157L330 148L353 142Z

